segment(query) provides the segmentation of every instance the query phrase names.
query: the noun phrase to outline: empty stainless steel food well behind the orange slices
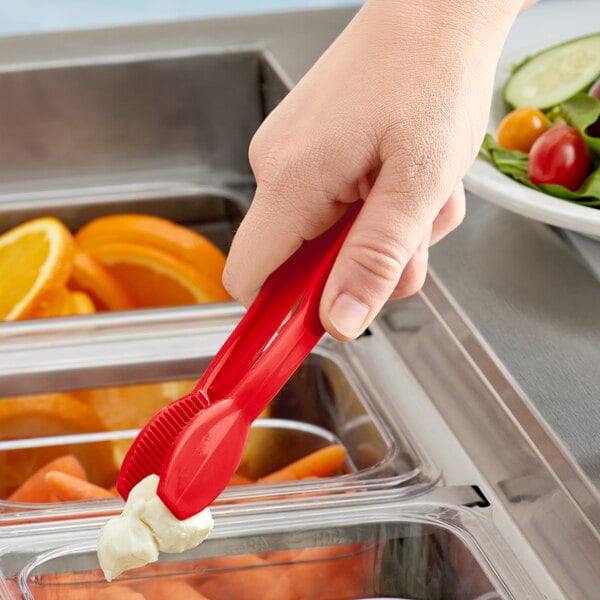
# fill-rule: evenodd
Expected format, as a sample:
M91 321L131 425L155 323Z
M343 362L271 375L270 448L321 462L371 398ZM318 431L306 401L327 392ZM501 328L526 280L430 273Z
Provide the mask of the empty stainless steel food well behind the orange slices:
M197 222L197 196L202 221L235 225L254 188L248 145L282 77L240 47L0 70L0 231L47 214L71 228L111 212Z

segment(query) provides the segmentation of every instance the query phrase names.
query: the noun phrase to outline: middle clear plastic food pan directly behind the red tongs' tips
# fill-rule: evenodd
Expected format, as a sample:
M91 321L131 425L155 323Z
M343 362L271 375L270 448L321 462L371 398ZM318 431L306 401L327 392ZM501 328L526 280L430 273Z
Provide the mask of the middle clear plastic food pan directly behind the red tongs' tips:
M0 440L0 524L19 526L120 510L118 497L67 496L57 502L55 497L36 501L37 497L13 495L33 473L64 455L76 457L89 481L111 489L139 427L166 403L191 391L195 380L190 377L204 370L231 326L197 326L194 335L184 328L185 336L160 330L170 343L188 348L168 360L153 351L154 360L138 356L134 365L127 365L125 356L136 357L127 345L110 345L109 360L101 345L63 344L54 358L65 352L78 355L79 363L50 361L37 364L28 376L0 377L0 415L3 407L10 414L5 415ZM134 345L155 348L155 342L152 337L141 338ZM356 492L412 496L436 484L439 471L402 422L387 416L386 406L395 399L373 391L366 374L351 365L348 352L351 346L331 338L317 346L252 428L238 469L242 480L232 480L217 503L316 504L324 496L351 494L359 500ZM91 387L82 389L84 381ZM15 394L19 387L30 393ZM309 473L291 481L262 481L332 444L344 448L345 460L324 476Z

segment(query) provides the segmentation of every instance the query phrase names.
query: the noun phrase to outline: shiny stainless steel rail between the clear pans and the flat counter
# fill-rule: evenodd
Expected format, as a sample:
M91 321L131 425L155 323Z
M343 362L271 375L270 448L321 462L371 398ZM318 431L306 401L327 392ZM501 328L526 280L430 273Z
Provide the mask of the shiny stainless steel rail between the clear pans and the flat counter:
M423 305L429 319L423 319ZM393 313L415 310L419 327L389 326L398 321ZM508 511L566 597L595 597L597 490L435 276L419 297L390 303L379 325L483 474L492 507L499 502Z

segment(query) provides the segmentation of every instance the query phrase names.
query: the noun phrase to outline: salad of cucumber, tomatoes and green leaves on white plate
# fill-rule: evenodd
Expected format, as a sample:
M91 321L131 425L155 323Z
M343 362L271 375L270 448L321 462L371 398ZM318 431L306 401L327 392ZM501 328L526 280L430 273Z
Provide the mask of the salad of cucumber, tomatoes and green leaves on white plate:
M600 33L528 56L502 97L506 114L480 157L529 188L600 208Z

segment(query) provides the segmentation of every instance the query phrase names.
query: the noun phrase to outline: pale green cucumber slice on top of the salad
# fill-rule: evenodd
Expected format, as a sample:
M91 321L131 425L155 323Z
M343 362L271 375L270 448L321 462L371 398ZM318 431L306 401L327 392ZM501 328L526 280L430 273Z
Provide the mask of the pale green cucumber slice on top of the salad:
M544 110L587 91L599 76L600 33L594 33L525 59L506 81L503 96L512 108Z

